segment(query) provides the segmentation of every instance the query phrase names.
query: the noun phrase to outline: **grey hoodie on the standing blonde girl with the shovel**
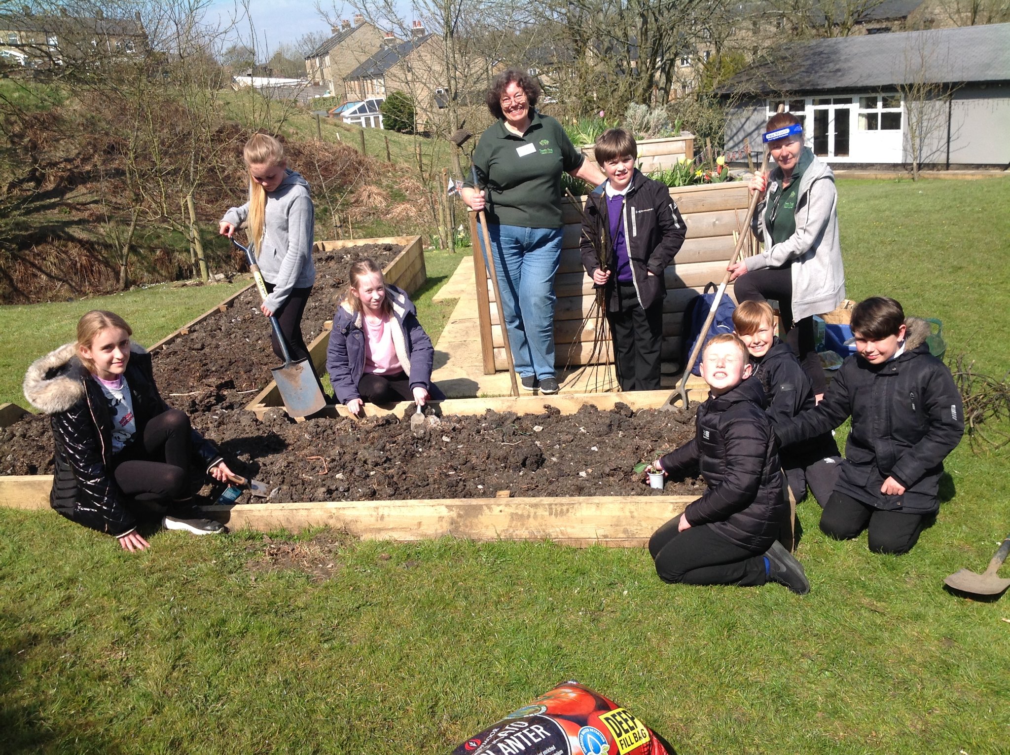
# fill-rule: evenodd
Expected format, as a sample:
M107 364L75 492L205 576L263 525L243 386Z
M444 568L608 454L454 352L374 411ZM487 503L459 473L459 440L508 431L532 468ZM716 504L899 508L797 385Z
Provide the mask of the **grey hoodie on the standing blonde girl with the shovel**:
M232 207L222 218L241 225L249 214L249 203ZM307 288L315 283L312 263L312 240L315 209L309 196L308 182L295 171L287 175L276 191L267 193L267 215L263 228L263 249L256 250L264 279L274 290L264 302L276 312L293 288Z

